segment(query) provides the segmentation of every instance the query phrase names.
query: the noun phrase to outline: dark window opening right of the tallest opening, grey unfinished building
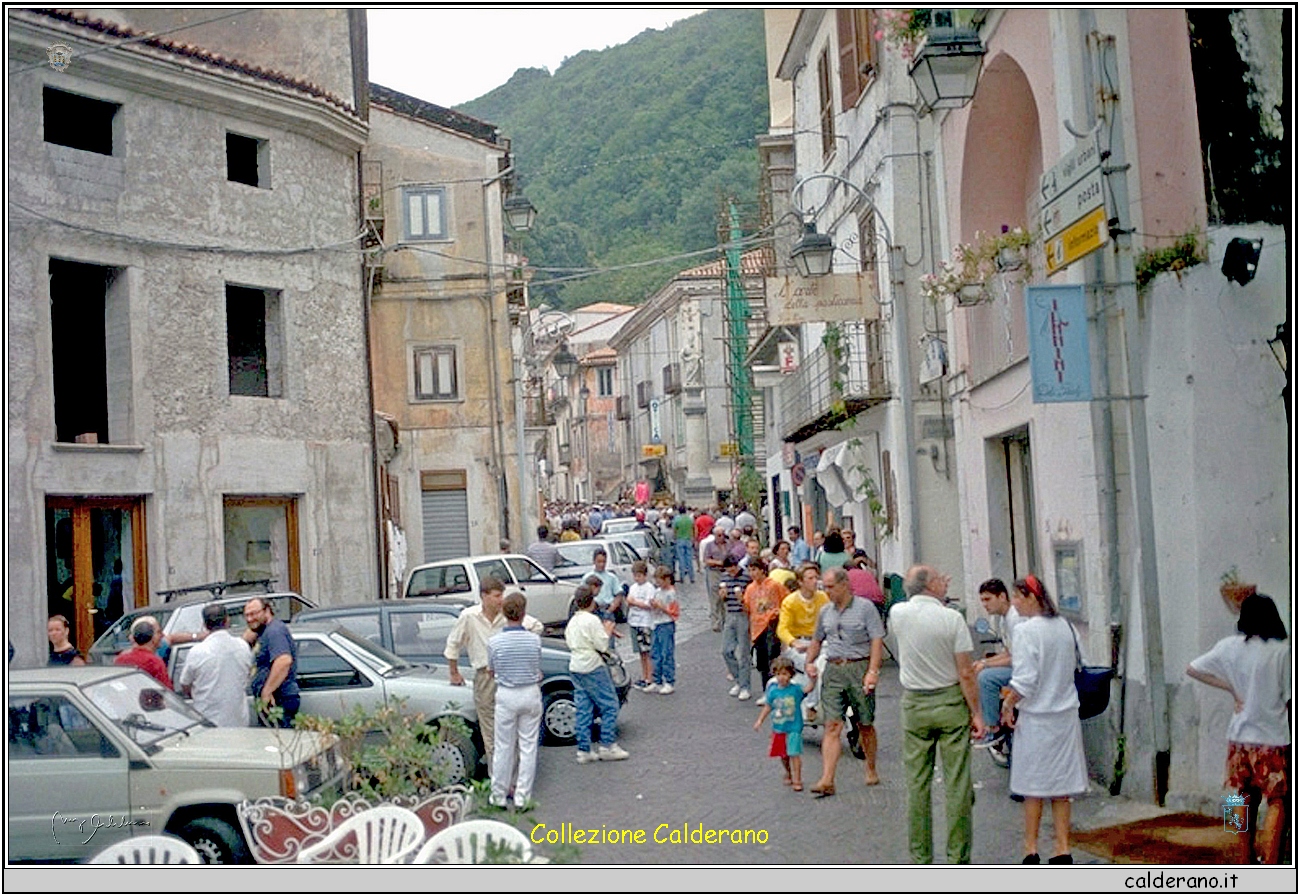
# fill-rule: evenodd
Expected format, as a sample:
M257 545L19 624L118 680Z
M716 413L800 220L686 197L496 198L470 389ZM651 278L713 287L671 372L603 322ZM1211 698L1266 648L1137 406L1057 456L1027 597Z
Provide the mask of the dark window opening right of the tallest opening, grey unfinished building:
M226 283L230 394L283 394L281 300L276 290Z

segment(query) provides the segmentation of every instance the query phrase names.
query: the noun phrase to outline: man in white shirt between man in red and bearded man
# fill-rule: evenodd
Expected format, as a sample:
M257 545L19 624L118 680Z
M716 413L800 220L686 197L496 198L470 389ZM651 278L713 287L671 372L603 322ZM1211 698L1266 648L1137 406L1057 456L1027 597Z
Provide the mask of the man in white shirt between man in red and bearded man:
M208 635L190 648L177 687L218 728L247 728L252 650L230 633L226 609L220 603L203 607L203 626Z

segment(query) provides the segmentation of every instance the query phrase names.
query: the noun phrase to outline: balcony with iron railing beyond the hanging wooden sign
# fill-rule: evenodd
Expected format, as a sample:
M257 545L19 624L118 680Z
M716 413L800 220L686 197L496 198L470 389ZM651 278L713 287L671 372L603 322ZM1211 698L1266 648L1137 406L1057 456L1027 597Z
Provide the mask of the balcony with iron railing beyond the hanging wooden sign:
M802 442L890 398L881 321L841 324L840 333L838 362L820 345L781 381L777 404L788 442Z

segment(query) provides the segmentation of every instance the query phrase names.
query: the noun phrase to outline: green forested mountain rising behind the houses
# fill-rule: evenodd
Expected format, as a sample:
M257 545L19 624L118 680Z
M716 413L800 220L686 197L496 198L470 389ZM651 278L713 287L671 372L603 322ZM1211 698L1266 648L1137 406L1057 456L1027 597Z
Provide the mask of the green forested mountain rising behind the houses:
M707 248L719 242L724 196L750 211L757 202L763 12L714 9L578 53L554 74L520 69L458 108L512 142L519 183L538 209L514 244L537 268L610 268ZM638 303L706 260L550 283L567 274L541 270L533 303Z

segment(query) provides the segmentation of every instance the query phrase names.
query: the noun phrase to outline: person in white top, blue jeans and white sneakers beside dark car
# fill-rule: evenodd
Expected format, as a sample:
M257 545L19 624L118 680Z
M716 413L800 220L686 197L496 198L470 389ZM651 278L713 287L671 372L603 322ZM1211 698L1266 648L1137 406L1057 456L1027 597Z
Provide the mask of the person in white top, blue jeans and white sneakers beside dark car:
M569 674L573 676L573 704L577 709L577 761L578 765L603 759L606 762L628 758L619 746L618 719L619 694L614 679L604 666L602 653L610 645L614 620L601 622L593 613L595 594L586 585L573 593L577 611L564 628L564 642L571 650ZM601 710L601 745L592 750L592 719Z

